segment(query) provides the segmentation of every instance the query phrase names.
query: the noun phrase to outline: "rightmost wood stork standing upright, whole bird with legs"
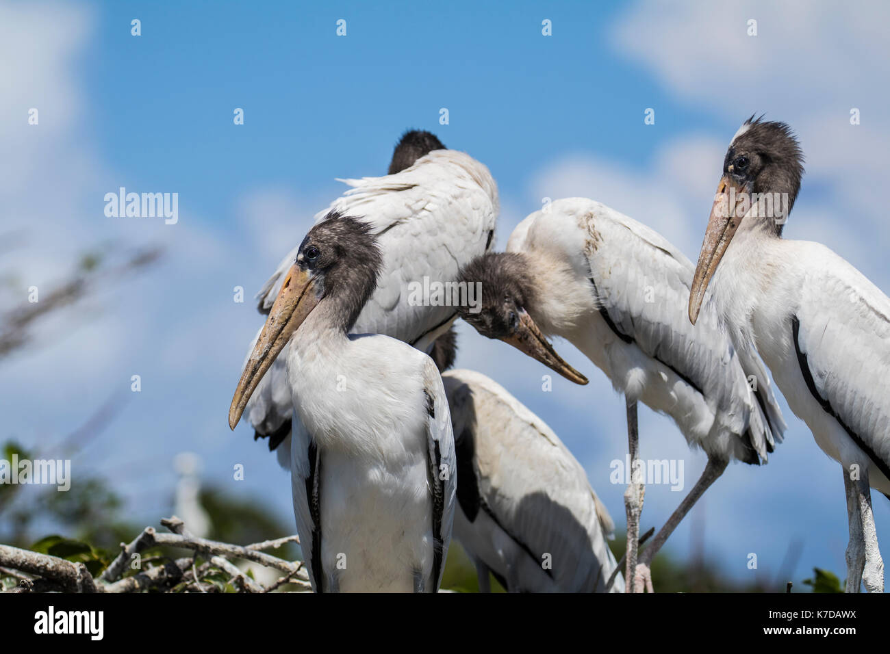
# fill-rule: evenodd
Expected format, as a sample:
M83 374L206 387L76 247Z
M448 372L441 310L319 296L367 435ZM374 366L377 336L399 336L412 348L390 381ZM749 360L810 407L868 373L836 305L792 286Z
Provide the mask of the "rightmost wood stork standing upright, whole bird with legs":
M736 343L755 343L789 408L844 467L846 590L884 588L870 488L890 493L890 299L819 243L785 240L803 155L784 123L748 118L732 138L695 270Z

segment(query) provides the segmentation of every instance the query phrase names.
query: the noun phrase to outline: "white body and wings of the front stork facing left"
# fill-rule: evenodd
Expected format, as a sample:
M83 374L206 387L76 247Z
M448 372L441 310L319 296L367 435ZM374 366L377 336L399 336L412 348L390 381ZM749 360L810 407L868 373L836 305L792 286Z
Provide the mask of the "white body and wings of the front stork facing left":
M457 475L448 400L433 360L388 336L350 336L342 343L329 332L298 335L287 357L303 424L295 432L299 447L291 448L294 513L313 587L341 593L438 588L433 537L441 539L445 561ZM308 433L323 452L314 477ZM438 534L432 531L431 474L443 478ZM313 520L307 480L319 488L320 524ZM318 529L316 558L318 544L308 535ZM317 563L321 570L313 569ZM418 579L424 583L419 588Z

